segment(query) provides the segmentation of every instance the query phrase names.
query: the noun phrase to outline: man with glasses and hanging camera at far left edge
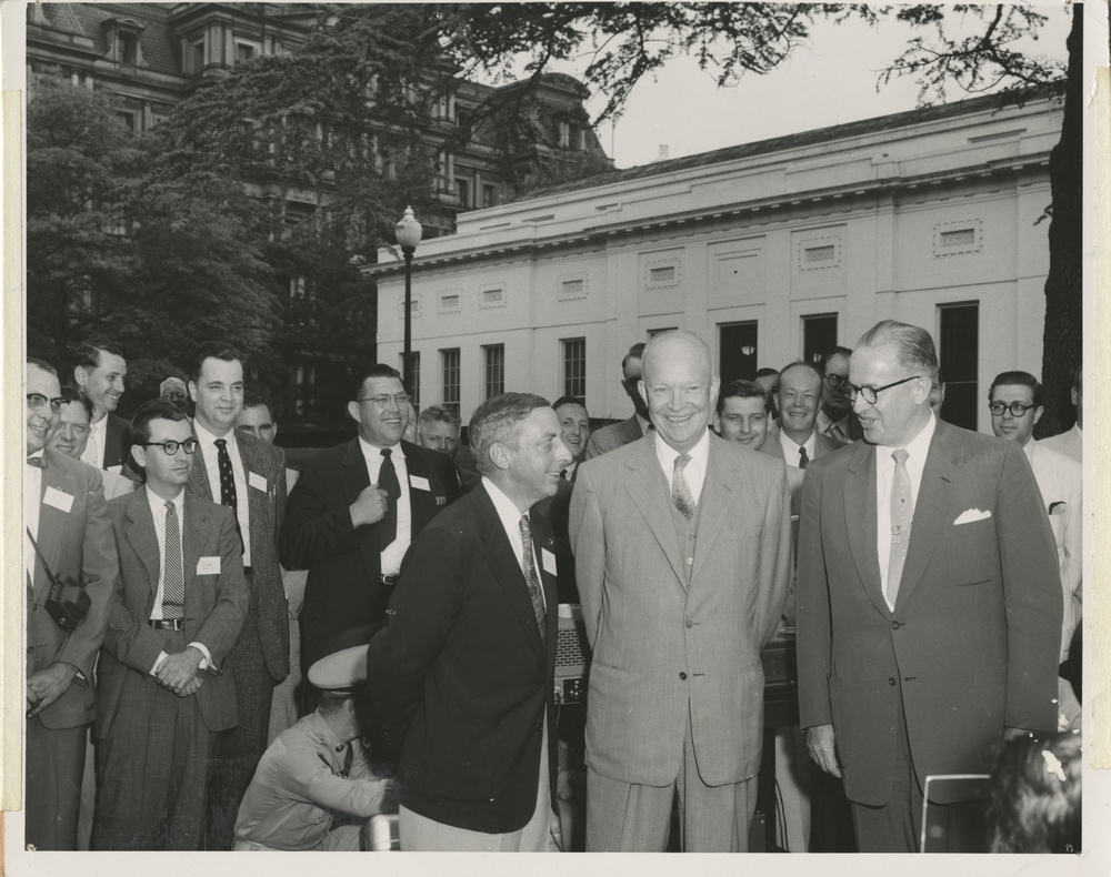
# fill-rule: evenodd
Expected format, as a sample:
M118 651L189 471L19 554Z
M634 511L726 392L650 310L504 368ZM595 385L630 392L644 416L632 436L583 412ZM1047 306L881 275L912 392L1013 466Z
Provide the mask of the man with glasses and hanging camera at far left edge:
M119 567L100 473L47 447L66 403L58 372L42 360L28 359L26 380L23 524L30 536L23 537L28 589L24 840L36 849L67 850L77 849L86 732L97 703L93 664ZM51 585L43 560L56 578L80 583L89 595L88 614L70 632L46 608Z

